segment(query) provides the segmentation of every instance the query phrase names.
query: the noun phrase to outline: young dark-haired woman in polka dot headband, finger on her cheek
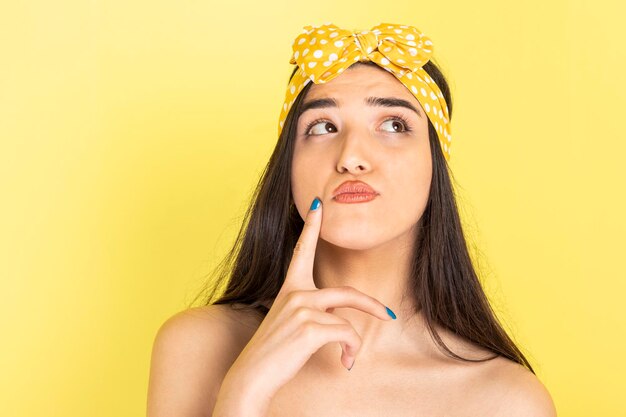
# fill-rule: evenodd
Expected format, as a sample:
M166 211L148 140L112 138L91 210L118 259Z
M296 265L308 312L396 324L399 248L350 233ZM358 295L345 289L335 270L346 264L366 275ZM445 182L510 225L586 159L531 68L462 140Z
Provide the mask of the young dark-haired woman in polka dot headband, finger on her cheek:
M431 54L407 25L296 38L242 232L155 339L149 417L556 415L468 254Z

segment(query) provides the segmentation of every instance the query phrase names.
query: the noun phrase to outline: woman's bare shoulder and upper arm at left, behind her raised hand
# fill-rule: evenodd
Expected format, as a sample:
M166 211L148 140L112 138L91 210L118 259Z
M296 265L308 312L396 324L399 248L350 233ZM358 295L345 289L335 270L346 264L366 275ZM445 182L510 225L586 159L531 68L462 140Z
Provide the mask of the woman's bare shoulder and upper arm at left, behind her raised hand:
M254 323L251 314L229 305L194 307L169 317L152 346L148 417L210 416Z

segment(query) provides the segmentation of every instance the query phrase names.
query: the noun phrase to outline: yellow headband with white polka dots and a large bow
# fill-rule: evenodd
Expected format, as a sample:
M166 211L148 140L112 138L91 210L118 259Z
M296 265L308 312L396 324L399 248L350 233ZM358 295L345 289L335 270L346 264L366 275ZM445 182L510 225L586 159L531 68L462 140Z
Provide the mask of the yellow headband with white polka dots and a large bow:
M432 41L412 26L381 23L369 31L352 32L332 23L305 26L293 42L290 64L299 70L287 86L278 121L278 135L300 91L313 81L326 83L356 61L373 61L391 72L425 110L435 127L446 160L450 159L450 115L435 81L422 68L433 52Z

